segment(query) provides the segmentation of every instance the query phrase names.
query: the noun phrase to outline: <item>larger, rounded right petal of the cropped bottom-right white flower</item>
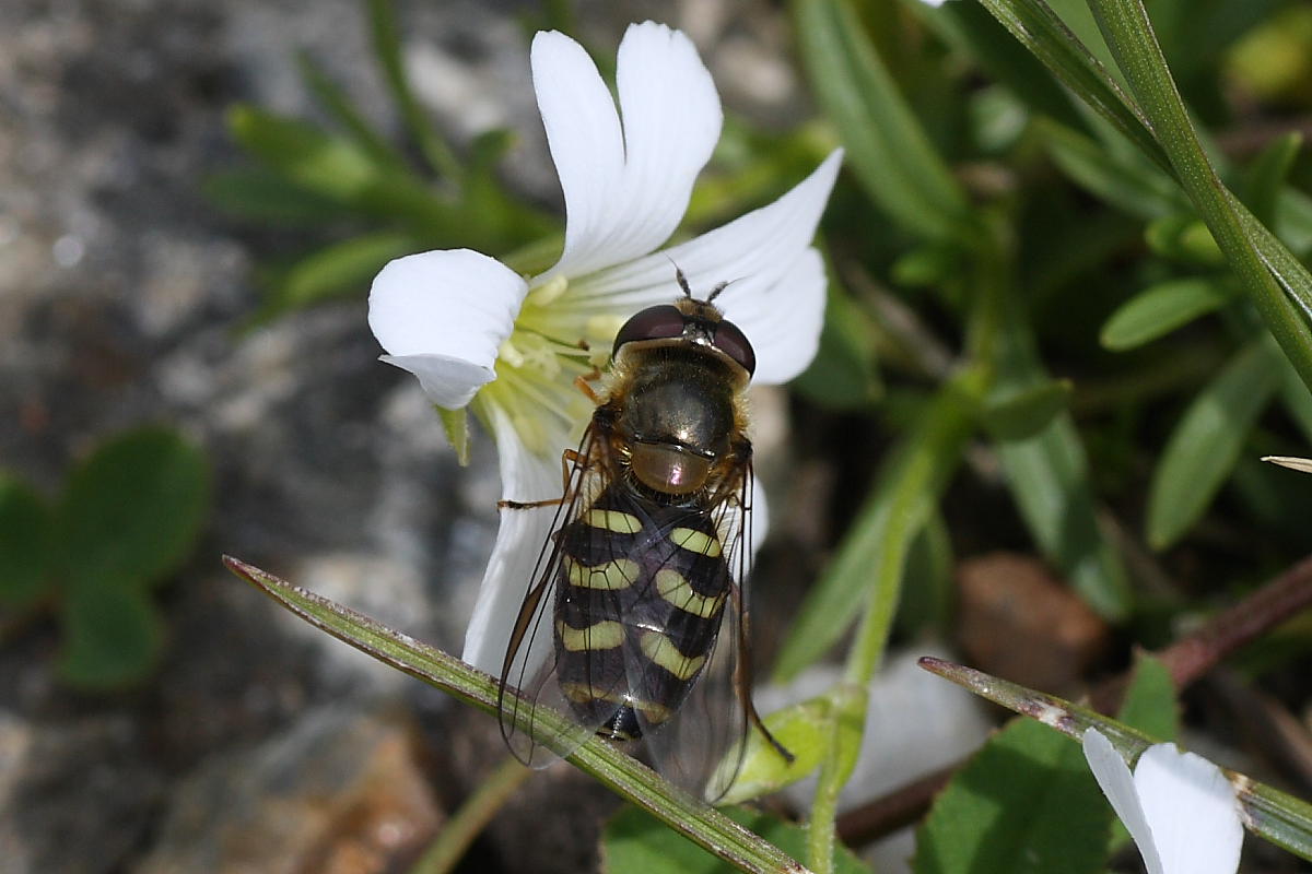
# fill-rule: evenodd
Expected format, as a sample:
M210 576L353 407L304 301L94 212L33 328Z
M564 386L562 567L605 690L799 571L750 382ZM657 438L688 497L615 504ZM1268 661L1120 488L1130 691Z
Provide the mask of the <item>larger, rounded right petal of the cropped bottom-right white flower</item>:
M1149 747L1135 789L1165 874L1235 874L1244 826L1221 769L1173 743Z

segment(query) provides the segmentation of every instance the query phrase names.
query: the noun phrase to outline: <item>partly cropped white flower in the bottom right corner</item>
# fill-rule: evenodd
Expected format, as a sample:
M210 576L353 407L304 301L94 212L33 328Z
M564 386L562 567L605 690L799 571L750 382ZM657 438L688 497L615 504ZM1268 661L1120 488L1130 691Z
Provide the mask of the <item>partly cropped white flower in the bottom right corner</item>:
M1144 751L1130 776L1097 729L1084 732L1084 757L1117 816L1139 845L1148 874L1233 874L1244 826L1221 769L1173 743Z

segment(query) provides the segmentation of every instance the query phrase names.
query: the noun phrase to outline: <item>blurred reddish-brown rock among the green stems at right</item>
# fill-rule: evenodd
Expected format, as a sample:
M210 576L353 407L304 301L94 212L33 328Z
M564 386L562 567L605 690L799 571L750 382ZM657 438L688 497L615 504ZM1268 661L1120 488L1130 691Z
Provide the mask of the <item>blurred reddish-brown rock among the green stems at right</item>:
M1061 693L1103 651L1109 629L1036 558L991 553L956 569L958 642L971 666Z

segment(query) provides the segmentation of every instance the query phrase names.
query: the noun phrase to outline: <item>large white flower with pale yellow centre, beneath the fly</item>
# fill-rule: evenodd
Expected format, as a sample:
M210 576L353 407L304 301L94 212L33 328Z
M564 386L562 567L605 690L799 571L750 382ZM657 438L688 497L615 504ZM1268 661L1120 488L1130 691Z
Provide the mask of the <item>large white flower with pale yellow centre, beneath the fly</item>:
M618 113L568 37L539 33L531 62L564 191L560 261L525 279L476 252L426 252L387 265L369 297L383 360L415 373L438 406L471 405L496 438L502 494L513 501L560 495L560 453L592 414L573 380L605 363L628 316L678 296L673 265L702 294L732 282L716 304L750 338L757 383L806 368L825 297L811 238L841 161L834 152L773 204L656 252L682 219L723 121L693 43L664 25L630 26L617 60ZM502 511L466 636L471 664L500 670L551 516Z

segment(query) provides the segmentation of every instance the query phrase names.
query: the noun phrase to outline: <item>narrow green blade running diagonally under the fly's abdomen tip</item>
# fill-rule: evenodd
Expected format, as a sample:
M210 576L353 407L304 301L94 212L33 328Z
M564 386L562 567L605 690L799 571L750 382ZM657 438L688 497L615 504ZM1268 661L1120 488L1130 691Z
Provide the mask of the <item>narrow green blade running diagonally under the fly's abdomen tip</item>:
M496 713L499 687L487 674L258 567L230 557L224 557L223 563L278 604L337 639L484 713ZM509 694L514 692L510 691ZM522 710L527 713L529 708ZM572 725L564 714L537 708L534 722L530 725L525 719L520 727L544 740L554 735L569 734ZM762 874L806 871L778 846L753 835L701 799L665 782L651 768L601 738L589 738L568 759L615 794L651 812L669 828L741 870Z

